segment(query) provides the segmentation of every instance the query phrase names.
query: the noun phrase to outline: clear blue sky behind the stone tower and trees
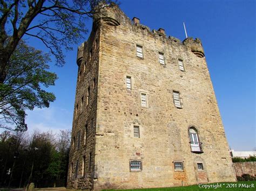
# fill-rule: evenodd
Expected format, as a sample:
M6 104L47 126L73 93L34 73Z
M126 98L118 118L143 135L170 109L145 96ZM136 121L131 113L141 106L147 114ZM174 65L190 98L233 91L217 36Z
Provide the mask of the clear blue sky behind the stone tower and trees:
M238 151L250 151L255 144L255 1L120 1L120 8L150 29L185 39L200 38L217 97L228 144ZM85 21L91 30L91 20ZM86 40L86 39L84 39ZM30 45L48 51L35 39ZM83 43L81 41L80 43ZM66 53L66 65L51 70L59 77L49 88L57 99L50 108L28 111L29 131L71 129L77 77L76 54Z

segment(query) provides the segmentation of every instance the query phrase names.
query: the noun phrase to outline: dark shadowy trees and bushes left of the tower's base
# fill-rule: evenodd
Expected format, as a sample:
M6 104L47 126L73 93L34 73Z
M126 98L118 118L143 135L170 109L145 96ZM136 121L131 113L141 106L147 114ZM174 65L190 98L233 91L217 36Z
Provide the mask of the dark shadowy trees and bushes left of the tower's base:
M36 187L65 186L70 135L68 130L61 131L58 136L51 132L34 132L31 137L28 132L1 133L0 188L8 186L9 181L12 187L25 187L29 181L34 182ZM15 153L18 153L18 158L14 158ZM12 169L14 162L15 168ZM11 180L6 174L9 169L13 173Z

